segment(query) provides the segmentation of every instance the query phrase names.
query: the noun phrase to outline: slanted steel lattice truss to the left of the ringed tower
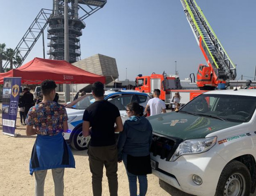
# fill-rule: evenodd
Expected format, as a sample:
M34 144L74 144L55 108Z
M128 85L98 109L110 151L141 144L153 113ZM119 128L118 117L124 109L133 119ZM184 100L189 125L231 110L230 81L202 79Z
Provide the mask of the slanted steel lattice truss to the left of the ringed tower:
M26 31L25 35L23 35L22 39L16 46L14 50L15 55L19 55L21 61L19 65L14 65L15 68L18 68L22 65L23 61L29 55L29 52L35 45L38 38L41 36L42 32L46 28L48 24L48 17L52 14L52 10L50 9L41 9L38 15L35 17L35 20L29 26L29 29ZM6 68L9 64L9 61L6 61L3 68Z

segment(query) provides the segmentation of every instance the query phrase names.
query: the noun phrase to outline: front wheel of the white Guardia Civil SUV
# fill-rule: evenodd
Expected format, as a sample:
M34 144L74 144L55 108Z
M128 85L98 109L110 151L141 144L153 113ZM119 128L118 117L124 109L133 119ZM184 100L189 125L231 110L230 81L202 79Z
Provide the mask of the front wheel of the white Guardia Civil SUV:
M247 167L239 161L230 161L222 170L215 196L250 195L251 176Z

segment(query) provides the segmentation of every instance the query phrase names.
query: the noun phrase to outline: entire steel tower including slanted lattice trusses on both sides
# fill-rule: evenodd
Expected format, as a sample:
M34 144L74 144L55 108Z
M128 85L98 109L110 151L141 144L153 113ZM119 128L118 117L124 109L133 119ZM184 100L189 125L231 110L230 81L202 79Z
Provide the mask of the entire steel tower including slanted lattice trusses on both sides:
M64 60L64 0L52 0L53 9L41 9L33 20L31 26L21 38L15 48L15 55L21 57L18 68L29 55L38 38L44 33L49 23L48 36L50 42L47 44L50 49L47 54L50 59ZM80 36L81 30L85 28L84 19L103 8L107 0L69 0L69 54L70 63L80 59ZM80 11L79 11L80 9ZM81 17L79 17L79 14ZM3 68L9 65L6 61Z

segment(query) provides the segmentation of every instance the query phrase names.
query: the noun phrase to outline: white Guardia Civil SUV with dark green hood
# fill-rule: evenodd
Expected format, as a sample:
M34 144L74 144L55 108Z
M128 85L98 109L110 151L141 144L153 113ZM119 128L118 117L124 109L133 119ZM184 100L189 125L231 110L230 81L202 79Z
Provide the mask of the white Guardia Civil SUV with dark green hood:
M197 196L248 196L256 186L256 91L209 91L178 112L148 117L151 166Z

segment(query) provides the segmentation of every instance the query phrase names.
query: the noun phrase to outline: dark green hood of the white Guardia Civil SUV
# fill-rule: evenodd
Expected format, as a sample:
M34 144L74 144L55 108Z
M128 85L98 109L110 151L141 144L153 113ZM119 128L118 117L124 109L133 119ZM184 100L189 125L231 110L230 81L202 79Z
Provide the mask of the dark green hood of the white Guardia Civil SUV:
M148 117L148 120L152 125L153 132L183 140L205 138L209 133L241 124L241 122L221 121L182 112L154 115Z

